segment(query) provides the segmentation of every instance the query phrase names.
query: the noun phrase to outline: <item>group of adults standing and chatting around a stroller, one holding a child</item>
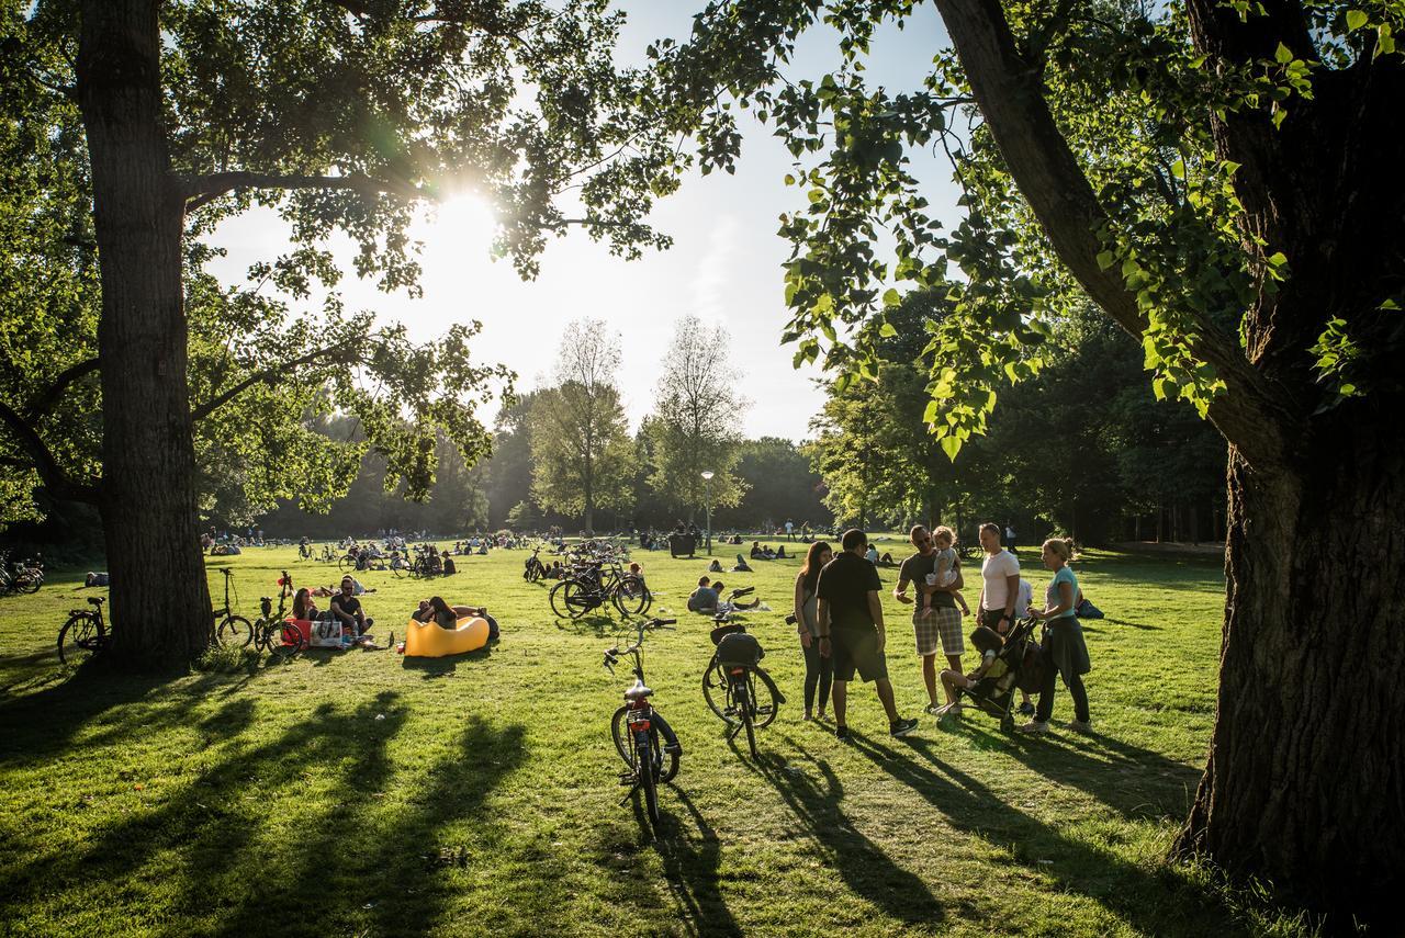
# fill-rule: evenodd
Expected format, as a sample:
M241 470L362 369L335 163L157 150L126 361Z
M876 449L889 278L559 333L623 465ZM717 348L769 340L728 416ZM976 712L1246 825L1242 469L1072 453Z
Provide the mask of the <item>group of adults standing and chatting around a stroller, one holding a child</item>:
M1010 632L1017 618L1045 622L1041 654L1043 682L1038 706L1027 698L1021 712L1033 719L1019 729L1027 733L1047 733L1054 712L1055 680L1061 675L1073 699L1075 719L1069 729L1092 732L1087 692L1082 675L1090 670L1087 645L1078 623L1075 609L1079 600L1078 579L1069 567L1072 542L1052 538L1041 550L1044 567L1052 573L1045 590L1043 608L1033 604L1033 588L1020 574L1020 562L1002 546L1002 531L996 524L981 525L981 597L975 609L976 626L989 629L1000 640ZM950 528L929 531L923 525L912 528L915 553L902 562L894 598L913 605L912 629L917 656L922 659L922 678L927 691L927 712L939 718L961 713L955 688L967 685L961 670L965 653L962 616L971 615L962 590L965 577ZM898 712L892 682L888 678L887 628L880 593L882 583L874 563L865 557L867 538L863 531L843 534L840 552L823 542L809 545L805 563L795 577L795 619L801 647L805 654L805 719L823 719L826 704L833 702L835 734L849 736L847 687L857 674L873 682L878 699L887 711L894 736L906 736L917 726L916 719L905 719ZM909 588L913 594L909 594ZM937 674L939 652L947 668ZM939 698L939 687L944 702Z

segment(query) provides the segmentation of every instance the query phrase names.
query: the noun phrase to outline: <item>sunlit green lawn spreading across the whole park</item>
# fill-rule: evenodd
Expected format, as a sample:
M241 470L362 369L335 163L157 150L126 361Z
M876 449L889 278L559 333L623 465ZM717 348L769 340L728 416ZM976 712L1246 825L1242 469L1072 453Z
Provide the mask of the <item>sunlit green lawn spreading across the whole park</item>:
M710 622L680 614L677 632L649 638L649 682L684 746L655 838L638 805L618 803L608 718L625 678L600 667L618 616L555 621L545 586L520 576L525 556L465 557L434 583L362 574L381 635L403 633L431 591L489 605L502 642L458 659L226 654L180 680L74 674L53 643L94 593L80 574L0 600L0 934L1295 928L1163 861L1211 730L1217 557L1076 564L1109 615L1085 625L1090 739L1010 739L968 715L951 729L923 716L894 740L873 689L854 685L853 737L839 741L799 719L804 666L783 623L798 560L724 574L770 605L749 622L790 702L753 762L702 702ZM636 559L656 609L673 612L705 567ZM1031 550L1023 560L1037 566ZM336 579L294 548L251 549L211 559L215 591L223 563L250 618L284 567L299 584ZM1043 595L1048 574L1030 573ZM882 576L891 588L895 572ZM920 715L912 630L887 607L899 706ZM1061 688L1055 720L1069 718Z

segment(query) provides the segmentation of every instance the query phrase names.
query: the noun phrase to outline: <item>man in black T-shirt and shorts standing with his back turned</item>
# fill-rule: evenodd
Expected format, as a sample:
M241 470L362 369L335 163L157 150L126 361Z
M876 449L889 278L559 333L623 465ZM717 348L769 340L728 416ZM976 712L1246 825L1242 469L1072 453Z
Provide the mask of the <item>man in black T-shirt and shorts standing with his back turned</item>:
M851 528L844 532L843 550L819 572L816 609L819 653L835 660L835 736L849 739L844 722L849 702L849 681L854 671L863 681L873 681L878 699L888 713L888 730L906 736L917 727L917 720L898 716L888 681L888 660L884 657L887 636L882 623L882 602L878 590L878 570L864 559L868 538Z

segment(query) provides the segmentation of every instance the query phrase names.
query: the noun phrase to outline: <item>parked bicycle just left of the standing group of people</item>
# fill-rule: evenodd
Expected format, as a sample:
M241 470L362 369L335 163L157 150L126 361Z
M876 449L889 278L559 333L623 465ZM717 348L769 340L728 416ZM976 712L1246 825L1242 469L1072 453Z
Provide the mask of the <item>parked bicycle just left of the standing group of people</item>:
M732 622L732 611L736 600L750 593L754 587L733 590L726 608L714 618L718 626L712 629L712 645L717 650L712 660L702 671L702 699L708 709L717 713L728 725L726 739L736 739L736 734L746 730L746 746L756 753L756 730L766 729L776 720L785 695L776 687L776 681L760 667L762 657L766 656L760 642L746 632L746 625ZM743 608L754 608L756 604Z

